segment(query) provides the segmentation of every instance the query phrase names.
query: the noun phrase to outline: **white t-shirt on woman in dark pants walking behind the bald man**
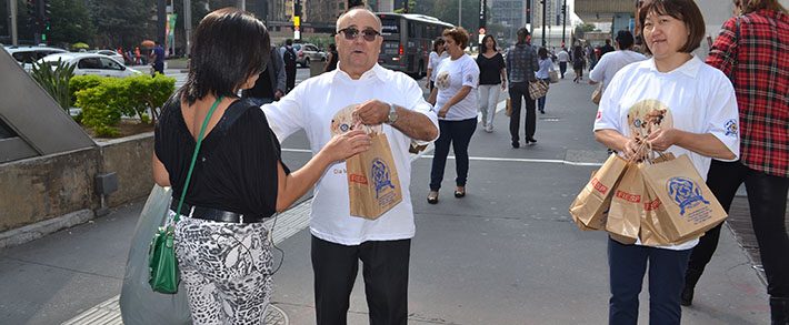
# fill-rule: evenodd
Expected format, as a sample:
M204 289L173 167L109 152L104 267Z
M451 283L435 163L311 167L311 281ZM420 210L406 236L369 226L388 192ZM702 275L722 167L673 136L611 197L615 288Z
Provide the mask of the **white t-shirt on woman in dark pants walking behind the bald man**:
M477 118L477 85L479 85L479 65L469 54L463 54L458 60L447 58L438 64L436 75L436 112L440 111L451 98L453 98L465 85L471 87L469 94L457 104L449 108L446 121L461 121Z

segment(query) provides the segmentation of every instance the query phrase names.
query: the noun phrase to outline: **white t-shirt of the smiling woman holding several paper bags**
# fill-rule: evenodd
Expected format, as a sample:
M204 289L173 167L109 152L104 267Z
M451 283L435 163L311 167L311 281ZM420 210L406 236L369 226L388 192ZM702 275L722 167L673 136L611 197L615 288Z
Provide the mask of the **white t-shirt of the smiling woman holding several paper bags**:
M697 57L666 73L657 70L655 59L622 68L600 99L595 131L611 129L628 138L635 132L643 134L645 130L635 125L641 125L640 121L658 110L666 110L661 126L710 133L739 158L739 115L735 89L723 72L705 64ZM675 156L687 154L701 177L707 180L711 158L678 145L672 145L668 152ZM698 242L692 240L660 247L688 250Z

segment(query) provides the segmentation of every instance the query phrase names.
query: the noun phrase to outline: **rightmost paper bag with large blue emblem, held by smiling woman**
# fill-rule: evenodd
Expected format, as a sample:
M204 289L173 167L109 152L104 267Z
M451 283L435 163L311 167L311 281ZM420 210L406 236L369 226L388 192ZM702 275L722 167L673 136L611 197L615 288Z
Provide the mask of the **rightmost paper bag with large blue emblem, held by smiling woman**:
M688 155L641 166L647 186L666 213L657 213L658 232L670 243L701 236L728 216Z

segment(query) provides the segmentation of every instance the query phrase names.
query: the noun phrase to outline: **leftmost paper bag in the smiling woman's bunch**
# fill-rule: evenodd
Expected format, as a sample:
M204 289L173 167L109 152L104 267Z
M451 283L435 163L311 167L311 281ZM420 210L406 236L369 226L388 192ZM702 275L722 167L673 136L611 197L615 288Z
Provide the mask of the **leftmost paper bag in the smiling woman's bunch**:
M581 230L605 230L612 189L625 172L627 162L611 154L570 205L570 215Z

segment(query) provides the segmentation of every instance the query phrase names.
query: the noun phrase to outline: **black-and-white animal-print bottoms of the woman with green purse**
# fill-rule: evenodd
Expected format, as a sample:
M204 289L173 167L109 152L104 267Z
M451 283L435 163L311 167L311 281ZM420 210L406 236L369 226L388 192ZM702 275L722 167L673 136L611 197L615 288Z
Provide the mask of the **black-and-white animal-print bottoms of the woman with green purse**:
M263 223L178 222L176 256L194 324L263 324L273 266L268 233Z

